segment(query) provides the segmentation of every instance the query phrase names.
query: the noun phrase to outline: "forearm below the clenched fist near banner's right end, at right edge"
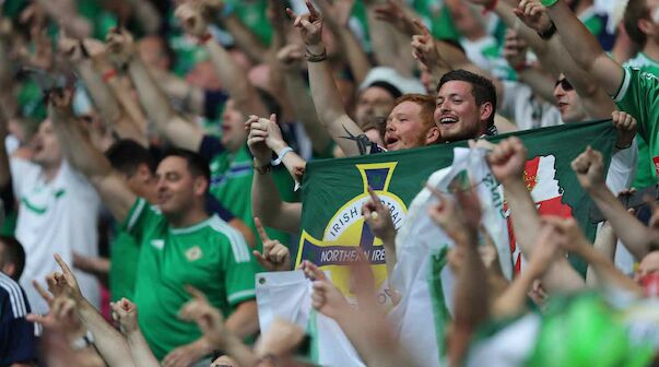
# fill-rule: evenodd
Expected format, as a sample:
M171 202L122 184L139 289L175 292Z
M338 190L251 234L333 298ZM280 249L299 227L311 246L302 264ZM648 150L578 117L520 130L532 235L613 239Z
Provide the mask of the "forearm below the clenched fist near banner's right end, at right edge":
M604 185L598 185L589 193L627 250L637 260L643 259L649 250L648 244L659 239L658 236L628 213Z

